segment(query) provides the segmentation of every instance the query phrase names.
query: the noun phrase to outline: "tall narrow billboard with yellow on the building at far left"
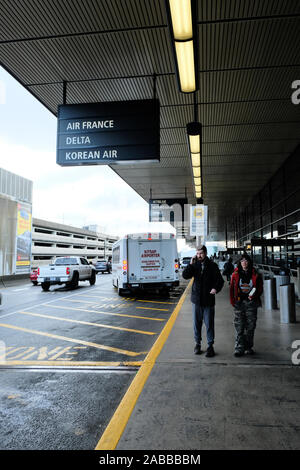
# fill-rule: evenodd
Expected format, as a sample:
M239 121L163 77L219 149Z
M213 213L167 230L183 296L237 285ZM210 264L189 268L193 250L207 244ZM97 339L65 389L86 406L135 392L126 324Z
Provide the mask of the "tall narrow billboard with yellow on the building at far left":
M16 273L29 273L31 262L31 206L18 202Z

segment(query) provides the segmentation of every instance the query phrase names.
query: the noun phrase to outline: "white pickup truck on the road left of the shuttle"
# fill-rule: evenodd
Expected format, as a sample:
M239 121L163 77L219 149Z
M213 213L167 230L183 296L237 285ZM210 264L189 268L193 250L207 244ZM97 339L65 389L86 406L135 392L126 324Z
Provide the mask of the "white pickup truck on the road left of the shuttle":
M56 258L53 264L38 269L38 282L47 291L52 284L66 284L75 289L78 281L96 282L96 270L85 258L65 256Z

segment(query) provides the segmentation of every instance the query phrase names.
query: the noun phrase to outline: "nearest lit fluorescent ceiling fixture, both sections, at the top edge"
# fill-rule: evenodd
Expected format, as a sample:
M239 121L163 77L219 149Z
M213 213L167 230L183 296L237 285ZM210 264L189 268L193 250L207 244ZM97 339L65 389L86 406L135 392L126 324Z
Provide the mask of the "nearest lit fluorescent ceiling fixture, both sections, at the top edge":
M197 1L165 0L179 90L198 89Z

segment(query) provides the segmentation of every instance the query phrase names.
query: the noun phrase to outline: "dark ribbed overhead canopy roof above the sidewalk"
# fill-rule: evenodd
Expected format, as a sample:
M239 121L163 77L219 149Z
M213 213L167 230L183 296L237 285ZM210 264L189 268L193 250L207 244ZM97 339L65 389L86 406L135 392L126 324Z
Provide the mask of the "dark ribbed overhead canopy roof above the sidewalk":
M220 232L300 141L298 0L203 0L198 8L203 197ZM0 62L52 113L67 103L161 105L161 161L113 166L146 201L194 201L186 124L193 95L175 77L163 0L0 2Z

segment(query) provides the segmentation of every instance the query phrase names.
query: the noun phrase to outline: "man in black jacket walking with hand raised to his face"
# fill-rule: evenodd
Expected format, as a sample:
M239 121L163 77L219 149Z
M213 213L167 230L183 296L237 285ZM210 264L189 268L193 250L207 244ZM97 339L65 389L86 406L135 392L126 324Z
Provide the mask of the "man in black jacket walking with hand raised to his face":
M207 257L206 246L197 248L190 264L182 273L184 279L194 277L192 286L192 306L194 319L195 354L201 354L202 323L206 326L208 348L206 357L213 357L215 339L215 295L224 285L218 266Z

